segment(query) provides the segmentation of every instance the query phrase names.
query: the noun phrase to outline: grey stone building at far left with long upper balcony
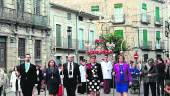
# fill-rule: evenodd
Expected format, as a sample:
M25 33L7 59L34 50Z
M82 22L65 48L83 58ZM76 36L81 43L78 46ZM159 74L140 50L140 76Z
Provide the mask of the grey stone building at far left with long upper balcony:
M47 12L46 0L0 0L0 67L13 69L26 53L33 64L45 64Z

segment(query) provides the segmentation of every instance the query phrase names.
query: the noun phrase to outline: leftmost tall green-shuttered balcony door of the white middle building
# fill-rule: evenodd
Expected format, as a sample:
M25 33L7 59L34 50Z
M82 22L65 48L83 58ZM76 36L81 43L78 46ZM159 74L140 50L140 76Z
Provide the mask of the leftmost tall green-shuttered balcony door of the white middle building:
M61 47L61 25L56 24L56 45Z

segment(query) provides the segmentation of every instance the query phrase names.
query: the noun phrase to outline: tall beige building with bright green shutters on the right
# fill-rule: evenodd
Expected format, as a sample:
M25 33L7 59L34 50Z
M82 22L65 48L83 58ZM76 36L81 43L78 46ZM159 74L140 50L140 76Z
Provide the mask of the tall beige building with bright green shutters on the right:
M165 0L65 0L60 4L77 8L92 14L103 16L97 25L98 34L102 34L101 21L105 21L107 32L121 35L128 43L127 59L133 59L134 49L138 48L139 59L147 61L163 55L165 42L164 17L166 15ZM111 24L110 24L111 23ZM165 44L165 43L164 43ZM129 55L130 54L130 55Z

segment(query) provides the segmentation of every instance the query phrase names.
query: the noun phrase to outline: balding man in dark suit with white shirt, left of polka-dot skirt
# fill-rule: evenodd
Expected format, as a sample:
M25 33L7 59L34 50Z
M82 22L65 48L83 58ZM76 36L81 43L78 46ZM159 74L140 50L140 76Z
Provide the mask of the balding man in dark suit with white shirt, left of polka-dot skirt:
M76 96L76 87L80 83L79 65L74 63L73 59L74 57L69 55L68 62L63 65L63 83L67 91L67 96Z

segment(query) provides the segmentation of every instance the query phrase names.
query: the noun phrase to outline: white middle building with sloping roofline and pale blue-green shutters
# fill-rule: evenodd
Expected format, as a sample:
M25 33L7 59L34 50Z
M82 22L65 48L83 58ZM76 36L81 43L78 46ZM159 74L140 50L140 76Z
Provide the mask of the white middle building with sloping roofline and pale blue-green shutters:
M52 55L61 64L69 54L74 56L74 61L86 57L87 44L93 45L96 34L95 20L99 17L50 2L50 26Z

